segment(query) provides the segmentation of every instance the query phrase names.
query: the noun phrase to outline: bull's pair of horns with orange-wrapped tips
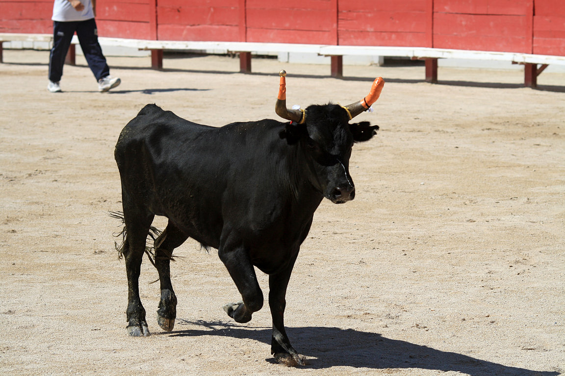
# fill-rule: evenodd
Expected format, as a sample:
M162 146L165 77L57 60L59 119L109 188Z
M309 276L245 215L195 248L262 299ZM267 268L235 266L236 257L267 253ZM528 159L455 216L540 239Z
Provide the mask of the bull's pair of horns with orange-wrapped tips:
M304 109L286 108L286 72L281 70L279 72L279 76L279 95L277 96L277 102L275 104L276 114L286 120L294 121L299 124L304 123L306 120L306 111ZM383 77L375 78L375 81L373 81L373 85L371 86L371 91L368 95L366 95L362 100L348 104L344 107L349 115L349 120L353 119L363 111L368 110L371 105L379 99L381 91L383 91L384 84L385 81Z

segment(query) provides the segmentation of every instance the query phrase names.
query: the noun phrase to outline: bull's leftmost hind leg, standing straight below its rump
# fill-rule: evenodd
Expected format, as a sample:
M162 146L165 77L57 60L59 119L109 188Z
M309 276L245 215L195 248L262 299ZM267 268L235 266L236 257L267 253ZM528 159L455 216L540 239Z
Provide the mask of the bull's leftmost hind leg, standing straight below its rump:
M141 210L132 210L124 201L124 224L127 235L124 242L123 254L125 258L125 271L128 276L128 334L133 337L147 337L150 335L145 321L145 308L141 304L139 291L139 277L141 260L145 252L145 245L149 227L154 215Z

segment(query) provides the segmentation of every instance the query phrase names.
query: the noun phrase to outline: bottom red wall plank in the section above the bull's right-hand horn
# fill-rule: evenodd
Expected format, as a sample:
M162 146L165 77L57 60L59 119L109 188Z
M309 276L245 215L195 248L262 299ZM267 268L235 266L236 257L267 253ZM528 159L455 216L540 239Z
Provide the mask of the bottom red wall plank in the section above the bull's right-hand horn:
M344 46L425 46L424 33L379 33L340 31L340 45Z

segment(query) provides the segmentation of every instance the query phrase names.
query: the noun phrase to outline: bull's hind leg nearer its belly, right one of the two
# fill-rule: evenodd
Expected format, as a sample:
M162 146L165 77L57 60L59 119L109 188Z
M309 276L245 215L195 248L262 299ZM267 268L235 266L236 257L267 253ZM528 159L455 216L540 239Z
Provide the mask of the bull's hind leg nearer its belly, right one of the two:
M171 284L171 269L169 264L173 250L186 241L184 235L175 225L168 223L167 228L155 240L155 267L159 272L161 284L161 300L157 309L157 322L166 331L173 330L176 319L176 295Z

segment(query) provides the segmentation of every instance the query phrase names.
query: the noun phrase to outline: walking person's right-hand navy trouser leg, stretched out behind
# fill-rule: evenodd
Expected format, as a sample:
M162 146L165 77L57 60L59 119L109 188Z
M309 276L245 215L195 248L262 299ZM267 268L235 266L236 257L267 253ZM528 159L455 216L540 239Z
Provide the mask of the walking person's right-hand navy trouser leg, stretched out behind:
M98 43L96 21L94 19L80 21L76 28L76 35L79 37L80 47L96 81L109 76L110 68Z

